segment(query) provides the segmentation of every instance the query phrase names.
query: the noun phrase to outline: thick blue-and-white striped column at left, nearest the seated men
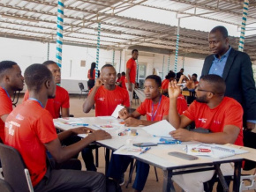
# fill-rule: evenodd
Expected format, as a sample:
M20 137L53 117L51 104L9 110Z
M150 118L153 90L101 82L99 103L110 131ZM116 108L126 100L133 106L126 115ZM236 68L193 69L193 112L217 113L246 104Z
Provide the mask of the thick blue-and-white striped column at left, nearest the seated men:
M63 23L64 0L58 0L56 20L56 63L60 68L62 67Z

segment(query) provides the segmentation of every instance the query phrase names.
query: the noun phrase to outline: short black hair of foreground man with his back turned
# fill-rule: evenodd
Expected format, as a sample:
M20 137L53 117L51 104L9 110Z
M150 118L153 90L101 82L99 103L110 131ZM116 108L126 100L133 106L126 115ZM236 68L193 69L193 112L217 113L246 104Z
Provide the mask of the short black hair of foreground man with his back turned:
M52 78L52 74L45 65L35 63L26 68L24 78L28 91L39 92L44 82Z

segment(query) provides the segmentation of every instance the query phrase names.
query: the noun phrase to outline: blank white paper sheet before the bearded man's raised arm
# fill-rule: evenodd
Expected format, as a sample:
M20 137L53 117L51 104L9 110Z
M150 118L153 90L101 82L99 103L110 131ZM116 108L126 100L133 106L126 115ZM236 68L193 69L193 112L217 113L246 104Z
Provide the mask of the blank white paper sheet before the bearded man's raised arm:
M161 122L155 122L152 125L142 128L147 131L148 134L155 137L170 137L169 132L176 130L169 122L162 120Z

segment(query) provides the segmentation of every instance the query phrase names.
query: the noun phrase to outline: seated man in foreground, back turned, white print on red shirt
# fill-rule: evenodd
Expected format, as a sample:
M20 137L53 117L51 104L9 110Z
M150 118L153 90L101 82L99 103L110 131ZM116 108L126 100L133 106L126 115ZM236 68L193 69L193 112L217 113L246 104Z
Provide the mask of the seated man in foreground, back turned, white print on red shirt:
M56 84L50 70L42 64L32 64L25 70L29 99L16 107L5 122L5 144L19 151L29 170L34 191L89 190L105 191L105 177L101 173L78 170L51 169L47 166L48 150L61 163L79 153L88 144L109 139L103 130L93 131L76 144L63 147L60 140L73 134L87 133L87 129L70 129L56 134L52 116L44 107L55 97Z

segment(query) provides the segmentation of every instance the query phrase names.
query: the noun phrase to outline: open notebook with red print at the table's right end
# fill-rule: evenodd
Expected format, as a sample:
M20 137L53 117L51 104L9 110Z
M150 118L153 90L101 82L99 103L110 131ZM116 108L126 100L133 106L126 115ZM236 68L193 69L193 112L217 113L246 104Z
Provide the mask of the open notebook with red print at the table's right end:
M217 159L228 158L248 152L221 144L187 144L186 151L191 155L210 156Z

